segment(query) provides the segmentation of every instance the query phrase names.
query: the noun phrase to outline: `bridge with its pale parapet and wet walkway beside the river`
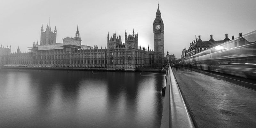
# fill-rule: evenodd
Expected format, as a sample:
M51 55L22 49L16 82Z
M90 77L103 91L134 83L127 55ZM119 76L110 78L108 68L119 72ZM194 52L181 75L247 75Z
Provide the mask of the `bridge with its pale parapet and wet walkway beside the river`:
M255 89L255 79L169 66L161 128L254 127Z

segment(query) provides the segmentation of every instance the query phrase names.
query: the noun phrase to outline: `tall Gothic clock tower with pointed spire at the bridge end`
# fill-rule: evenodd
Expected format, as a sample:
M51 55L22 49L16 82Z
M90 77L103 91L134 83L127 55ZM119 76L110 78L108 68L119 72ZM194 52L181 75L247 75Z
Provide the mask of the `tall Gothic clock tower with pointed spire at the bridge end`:
M156 18L153 23L154 32L154 62L156 66L164 64L164 22L159 10L159 4L156 11Z

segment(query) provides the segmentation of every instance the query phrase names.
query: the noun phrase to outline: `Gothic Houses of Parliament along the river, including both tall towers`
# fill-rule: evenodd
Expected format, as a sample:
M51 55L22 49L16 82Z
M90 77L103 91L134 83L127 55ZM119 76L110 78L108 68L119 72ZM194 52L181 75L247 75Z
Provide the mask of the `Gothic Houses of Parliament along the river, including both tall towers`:
M11 46L0 47L0 66L31 67L81 67L107 68L107 70L135 70L143 67L164 65L164 23L159 10L153 23L154 51L139 46L139 35L134 30L125 31L124 43L121 35L107 35L107 48L97 45L82 45L77 25L76 36L66 37L63 43L56 43L57 28L54 31L49 25L41 27L40 44L33 43L30 52L20 52L17 48L11 53Z

